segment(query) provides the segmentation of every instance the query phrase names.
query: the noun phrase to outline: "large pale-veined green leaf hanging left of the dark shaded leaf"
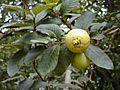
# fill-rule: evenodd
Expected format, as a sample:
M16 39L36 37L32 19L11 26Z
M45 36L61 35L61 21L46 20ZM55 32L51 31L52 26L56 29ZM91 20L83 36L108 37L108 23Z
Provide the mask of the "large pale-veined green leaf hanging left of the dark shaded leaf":
M43 52L40 60L38 58L38 70L43 76L55 69L58 63L59 50L59 45L49 47Z

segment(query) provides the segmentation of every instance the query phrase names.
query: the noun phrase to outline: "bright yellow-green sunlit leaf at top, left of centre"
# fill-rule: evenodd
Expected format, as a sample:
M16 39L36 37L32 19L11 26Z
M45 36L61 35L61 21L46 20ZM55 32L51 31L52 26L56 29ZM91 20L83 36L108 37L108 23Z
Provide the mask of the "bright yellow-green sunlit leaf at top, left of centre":
M35 14L35 16L40 13L43 10L47 10L55 6L55 3L50 3L50 4L38 4L35 7L32 8L32 12Z

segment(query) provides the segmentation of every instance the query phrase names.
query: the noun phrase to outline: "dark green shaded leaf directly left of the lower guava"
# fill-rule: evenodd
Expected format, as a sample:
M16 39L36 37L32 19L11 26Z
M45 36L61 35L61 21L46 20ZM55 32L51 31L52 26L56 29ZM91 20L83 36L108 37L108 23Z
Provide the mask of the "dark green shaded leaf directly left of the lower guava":
M70 62L73 58L72 56L73 54L66 49L65 45L62 45L60 48L58 64L55 70L53 71L55 75L60 76L66 71L67 67L70 65Z

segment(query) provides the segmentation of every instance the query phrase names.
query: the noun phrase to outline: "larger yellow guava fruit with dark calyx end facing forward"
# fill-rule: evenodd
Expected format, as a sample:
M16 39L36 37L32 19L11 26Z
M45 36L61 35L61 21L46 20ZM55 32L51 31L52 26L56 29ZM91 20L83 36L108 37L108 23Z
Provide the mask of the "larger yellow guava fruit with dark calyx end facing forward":
M66 47L73 53L83 52L90 44L89 34L82 29L73 29L66 35Z

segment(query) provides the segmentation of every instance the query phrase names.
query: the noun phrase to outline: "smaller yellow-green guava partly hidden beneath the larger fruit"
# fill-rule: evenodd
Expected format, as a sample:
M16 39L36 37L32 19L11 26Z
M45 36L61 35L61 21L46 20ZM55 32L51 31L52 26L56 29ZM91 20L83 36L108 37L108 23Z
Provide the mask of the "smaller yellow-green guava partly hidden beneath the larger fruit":
M72 60L72 66L75 69L85 69L90 65L90 59L84 53L75 54Z

